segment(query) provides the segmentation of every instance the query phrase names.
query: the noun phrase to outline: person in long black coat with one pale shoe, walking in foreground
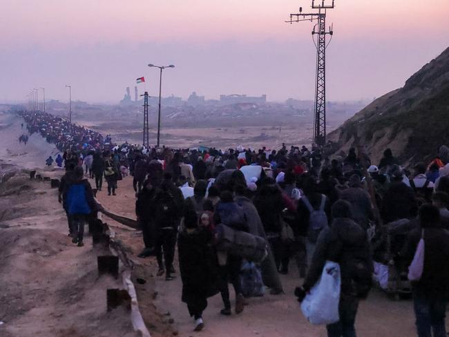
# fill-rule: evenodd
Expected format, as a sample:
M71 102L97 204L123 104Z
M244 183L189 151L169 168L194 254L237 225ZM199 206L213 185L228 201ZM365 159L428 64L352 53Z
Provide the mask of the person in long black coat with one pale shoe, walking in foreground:
M184 226L178 236L178 254L182 280L182 302L187 303L195 319L194 331L204 327L202 312L207 298L218 293L218 259L213 249L213 233L198 227L196 212L184 212Z

